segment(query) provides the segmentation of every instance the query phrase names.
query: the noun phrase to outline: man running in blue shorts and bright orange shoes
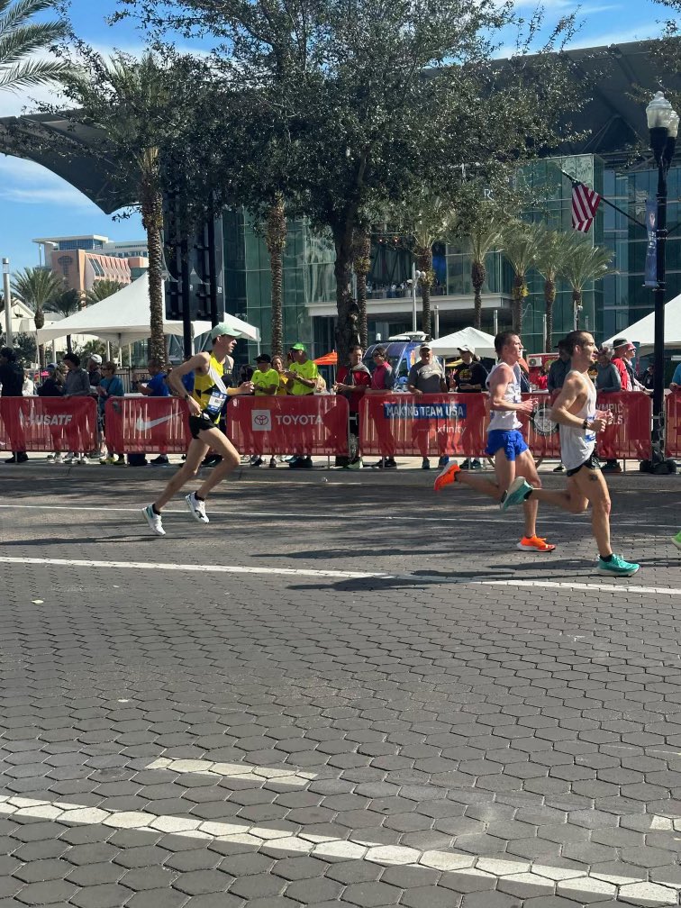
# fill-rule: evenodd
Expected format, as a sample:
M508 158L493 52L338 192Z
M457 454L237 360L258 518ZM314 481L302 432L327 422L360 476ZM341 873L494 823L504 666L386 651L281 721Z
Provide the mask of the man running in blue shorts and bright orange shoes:
M501 331L494 339L494 349L500 360L489 373L489 406L491 418L488 427L486 453L494 458L495 479L471 476L461 470L458 464L445 467L435 480L435 491L439 492L449 483L463 483L483 495L501 502L506 490L517 476L528 479L530 488L539 488L541 482L534 459L520 433L518 413L531 413L537 407L536 400L522 400L520 397L520 366L522 342L513 331ZM518 542L524 551L552 552L555 546L537 535L537 501L525 503L525 535Z

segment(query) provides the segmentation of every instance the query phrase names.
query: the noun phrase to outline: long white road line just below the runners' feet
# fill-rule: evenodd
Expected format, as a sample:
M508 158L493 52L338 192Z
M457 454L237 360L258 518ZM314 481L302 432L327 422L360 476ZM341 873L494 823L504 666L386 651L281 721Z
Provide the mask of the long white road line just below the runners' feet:
M13 558L0 557L0 564L16 565L54 565L61 568L123 568L125 570L168 570L201 574L264 574L283 577L331 577L350 580L408 580L412 583L449 583L458 586L472 587L537 587L538 589L599 590L617 592L618 596L643 595L659 593L666 596L681 596L681 589L667 587L637 587L635 584L615 583L579 583L577 581L558 580L488 580L485 577L457 577L447 574L385 574L370 571L350 570L316 570L313 568L261 568L242 565L182 565L156 561L95 561L80 558Z

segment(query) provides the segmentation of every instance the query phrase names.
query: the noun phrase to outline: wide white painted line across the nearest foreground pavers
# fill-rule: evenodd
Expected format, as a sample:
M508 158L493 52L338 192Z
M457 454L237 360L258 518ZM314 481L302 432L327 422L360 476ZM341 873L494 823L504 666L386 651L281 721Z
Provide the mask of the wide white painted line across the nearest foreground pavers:
M490 880L508 883L525 883L536 886L537 894L553 891L578 901L593 902L617 896L633 904L676 905L681 884L659 885L642 880L637 868L608 867L606 873L589 873L584 870L534 864L521 858L498 859L479 857L454 851L420 851L402 845L381 845L354 834L354 841L334 838L331 835L305 833L291 835L290 830L245 823L216 823L190 816L157 816L143 811L104 810L84 804L64 801L38 801L15 795L0 795L0 815L32 817L65 826L71 824L103 825L112 829L134 829L138 832L199 838L206 841L233 842L262 848L274 857L290 854L311 854L334 861L370 861L389 866L400 864L409 867L432 867L442 873L456 872L470 880L484 876ZM675 826L676 826L675 821ZM502 884L503 888L503 884ZM580 896L584 896L581 898ZM638 898L648 901L638 901Z

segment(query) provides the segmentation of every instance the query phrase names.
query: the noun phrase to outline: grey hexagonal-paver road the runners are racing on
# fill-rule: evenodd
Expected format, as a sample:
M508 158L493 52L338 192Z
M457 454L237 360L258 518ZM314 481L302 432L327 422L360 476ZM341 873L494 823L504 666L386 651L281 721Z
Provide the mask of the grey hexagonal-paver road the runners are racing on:
M149 474L0 479L0 908L677 904L679 480L613 483L624 581L328 475L164 539Z

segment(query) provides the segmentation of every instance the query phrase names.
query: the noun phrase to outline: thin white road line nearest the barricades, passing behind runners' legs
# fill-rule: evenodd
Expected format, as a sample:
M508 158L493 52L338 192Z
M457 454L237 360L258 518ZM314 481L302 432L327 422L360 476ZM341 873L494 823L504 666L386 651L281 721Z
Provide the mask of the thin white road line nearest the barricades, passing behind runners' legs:
M103 509L101 506L94 507L93 505L14 505L14 504L13 505L0 505L0 508L7 508L7 509L18 508L21 510L49 510L49 511L57 511L57 510L102 511L102 509ZM119 514L139 514L141 512L141 508L111 508L111 507L109 507L108 504L105 506L105 509L106 509L107 513L109 511L111 511L111 512L115 512L115 513L119 513ZM163 514L184 514L184 515L186 515L186 513L187 513L186 508L163 508ZM211 510L211 514L214 515L215 517L243 518L244 520L250 520L253 517L271 518L271 516L272 516L271 511L248 511L248 512L246 512L246 511L237 511L237 510L229 510L229 511ZM277 511L276 516L281 517L281 518L295 518L295 519L303 518L305 520L320 520L320 521L325 521L325 520L329 519L329 515L326 513L303 514L303 513L301 513L301 511L296 511L295 513L291 513L291 514L287 514L284 511ZM338 514L334 511L334 513L333 513L334 520L352 520L353 522L356 522L358 519L361 519L361 518L373 519L375 517L376 517L375 511L370 511L370 512L368 511L367 513L361 513L360 511L356 511L356 512L353 511L352 514ZM422 518L421 517L402 517L401 515L398 517L394 517L394 516L386 515L386 516L381 516L381 519L382 520L397 520L399 523L402 521L408 522L408 521L412 521L412 520L418 520L419 523L424 523L424 522L430 522L430 523L507 523L508 522L507 518L503 518L503 517L501 517L501 515L499 515L498 517L494 517L494 518L493 517L478 517L478 516L466 517L465 515L461 515L461 517L437 517L437 516L429 517L427 515L424 515ZM589 523L588 516L582 516L582 515L577 514L571 520L553 520L552 519L550 521L550 524L551 524L551 527L574 527L575 524L576 523L578 524L579 522L588 524ZM637 529L639 529L639 528L640 529L659 529L660 532L666 533L668 535L669 524L668 524L668 522L637 523L636 528Z

